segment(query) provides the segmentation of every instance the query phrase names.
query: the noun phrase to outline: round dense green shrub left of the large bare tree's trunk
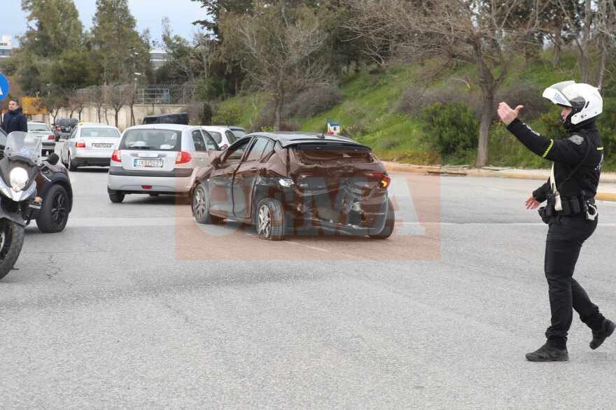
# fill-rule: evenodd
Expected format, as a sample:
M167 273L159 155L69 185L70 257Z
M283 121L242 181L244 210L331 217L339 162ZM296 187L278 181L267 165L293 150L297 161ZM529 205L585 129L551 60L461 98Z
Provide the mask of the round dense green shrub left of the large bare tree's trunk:
M437 102L423 108L423 138L447 157L468 156L477 147L479 121L465 102Z

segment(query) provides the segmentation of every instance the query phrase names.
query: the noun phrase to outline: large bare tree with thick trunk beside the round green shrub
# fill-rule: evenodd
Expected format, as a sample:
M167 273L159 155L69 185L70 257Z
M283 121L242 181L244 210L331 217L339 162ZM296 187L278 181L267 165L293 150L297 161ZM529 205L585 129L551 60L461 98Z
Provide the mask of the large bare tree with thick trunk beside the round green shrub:
M428 57L475 65L482 92L477 167L488 159L489 129L498 87L512 59L533 34L548 0L346 0L356 10L349 28L367 40L380 64ZM525 17L517 10L524 8ZM500 70L494 70L498 66Z

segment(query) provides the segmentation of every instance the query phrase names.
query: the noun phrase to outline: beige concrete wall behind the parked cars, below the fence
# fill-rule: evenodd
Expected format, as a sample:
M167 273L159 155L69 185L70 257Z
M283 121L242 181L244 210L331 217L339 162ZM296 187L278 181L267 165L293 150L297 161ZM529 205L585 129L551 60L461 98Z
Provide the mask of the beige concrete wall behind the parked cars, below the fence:
M186 113L188 108L183 105L162 105L162 104L135 104L133 106L133 112L135 117L135 124L141 124L141 121L144 120L146 115L153 114L165 114L165 113ZM107 108L105 111L104 108L101 108L100 113L100 121L99 114L97 112L97 107L94 105L86 106L81 111L81 120L85 122L102 122L103 124L116 125L115 111L113 109ZM79 118L76 111L71 115L71 111L66 108L60 109L57 118ZM31 115L31 120L33 121L43 121L47 122L48 125L51 125L53 122L53 118L51 115ZM124 131L125 128L130 127L130 106L123 106L118 111L118 128L120 132Z

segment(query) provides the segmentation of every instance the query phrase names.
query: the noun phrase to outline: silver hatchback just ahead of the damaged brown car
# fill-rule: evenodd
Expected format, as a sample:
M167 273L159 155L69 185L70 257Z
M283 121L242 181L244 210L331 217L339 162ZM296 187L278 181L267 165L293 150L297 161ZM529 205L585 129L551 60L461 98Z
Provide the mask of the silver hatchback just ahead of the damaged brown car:
M135 125L124 130L111 156L107 192L111 202L127 194L189 197L197 169L210 164L218 144L201 127Z

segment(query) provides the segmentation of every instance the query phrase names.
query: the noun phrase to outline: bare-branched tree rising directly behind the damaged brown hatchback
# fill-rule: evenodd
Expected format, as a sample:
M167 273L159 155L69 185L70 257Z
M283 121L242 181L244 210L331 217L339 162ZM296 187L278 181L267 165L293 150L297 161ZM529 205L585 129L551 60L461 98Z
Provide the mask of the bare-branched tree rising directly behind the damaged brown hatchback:
M326 35L308 8L262 7L253 15L225 16L222 27L227 49L235 46L244 55L242 69L271 92L276 131L286 94L331 82L318 57Z

